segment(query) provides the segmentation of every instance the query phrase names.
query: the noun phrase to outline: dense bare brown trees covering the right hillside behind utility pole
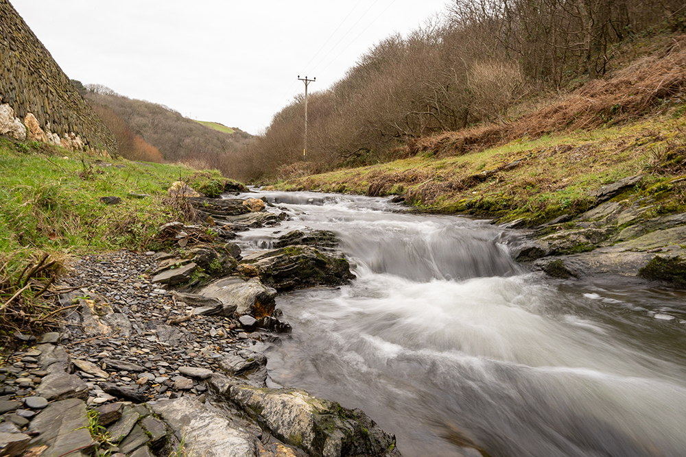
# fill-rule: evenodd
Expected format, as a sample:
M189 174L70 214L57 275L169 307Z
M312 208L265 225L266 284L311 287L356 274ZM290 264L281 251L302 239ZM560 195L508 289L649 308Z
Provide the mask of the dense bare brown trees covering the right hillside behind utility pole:
M238 151L230 173L260 180L368 164L402 156L416 138L508 123L525 99L613 71L620 42L683 32L685 13L678 0L456 0L309 97L309 163L299 96Z

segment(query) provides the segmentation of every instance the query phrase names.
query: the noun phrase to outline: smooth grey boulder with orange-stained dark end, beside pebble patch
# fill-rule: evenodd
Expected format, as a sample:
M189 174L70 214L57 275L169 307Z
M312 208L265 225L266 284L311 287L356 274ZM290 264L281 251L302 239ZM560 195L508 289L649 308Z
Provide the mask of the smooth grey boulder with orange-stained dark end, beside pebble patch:
M276 291L264 286L257 278L244 281L239 277L224 277L202 288L200 295L221 301L224 305L220 312L222 316L250 314L260 319L274 311Z

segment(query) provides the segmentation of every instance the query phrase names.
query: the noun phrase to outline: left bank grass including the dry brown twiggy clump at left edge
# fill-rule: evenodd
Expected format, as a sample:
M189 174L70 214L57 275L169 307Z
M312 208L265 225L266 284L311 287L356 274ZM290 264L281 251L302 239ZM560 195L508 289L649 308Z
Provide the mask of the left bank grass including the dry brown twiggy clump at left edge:
M103 162L0 138L0 339L49 328L59 312L46 299L56 295L49 287L71 256L157 249L158 227L191 221L187 201L167 196L178 180L197 190L226 184L218 171ZM107 196L121 202L100 201Z

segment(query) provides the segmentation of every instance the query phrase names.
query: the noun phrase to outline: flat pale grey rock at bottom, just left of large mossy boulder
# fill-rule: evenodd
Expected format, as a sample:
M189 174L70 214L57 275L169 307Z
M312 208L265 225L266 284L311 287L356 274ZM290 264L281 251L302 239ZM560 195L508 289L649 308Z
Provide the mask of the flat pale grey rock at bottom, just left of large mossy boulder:
M165 400L151 406L174 430L186 438L187 448L206 457L256 457L255 439L238 428L219 410L188 397Z

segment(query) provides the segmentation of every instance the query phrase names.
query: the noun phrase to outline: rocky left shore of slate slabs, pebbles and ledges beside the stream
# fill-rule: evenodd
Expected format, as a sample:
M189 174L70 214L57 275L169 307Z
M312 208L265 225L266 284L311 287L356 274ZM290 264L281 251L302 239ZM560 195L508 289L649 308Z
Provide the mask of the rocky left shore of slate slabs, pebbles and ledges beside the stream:
M194 199L203 225L165 251L86 256L62 278L60 332L0 367L3 456L399 456L362 410L272 382L277 291L353 277L330 233L241 256L235 232L278 224L264 203ZM322 244L320 249L313 245Z

